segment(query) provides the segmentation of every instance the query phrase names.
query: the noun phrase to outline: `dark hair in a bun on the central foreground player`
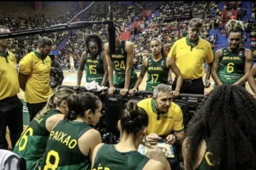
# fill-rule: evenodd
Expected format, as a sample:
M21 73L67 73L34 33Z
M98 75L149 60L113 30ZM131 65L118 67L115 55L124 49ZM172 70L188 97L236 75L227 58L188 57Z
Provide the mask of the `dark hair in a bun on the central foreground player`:
M135 138L148 125L148 116L144 109L135 101L128 101L123 117L120 119L122 131L132 134Z

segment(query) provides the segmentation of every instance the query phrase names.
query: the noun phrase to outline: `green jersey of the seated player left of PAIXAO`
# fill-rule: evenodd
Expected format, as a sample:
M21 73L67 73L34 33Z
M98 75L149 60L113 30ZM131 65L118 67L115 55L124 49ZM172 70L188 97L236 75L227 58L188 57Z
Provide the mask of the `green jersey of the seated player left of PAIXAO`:
M50 134L46 127L46 121L54 114L61 114L61 111L57 109L50 110L44 117L36 114L36 117L29 123L26 131L17 141L13 152L26 159L26 169L38 169L37 166L47 148L47 139Z

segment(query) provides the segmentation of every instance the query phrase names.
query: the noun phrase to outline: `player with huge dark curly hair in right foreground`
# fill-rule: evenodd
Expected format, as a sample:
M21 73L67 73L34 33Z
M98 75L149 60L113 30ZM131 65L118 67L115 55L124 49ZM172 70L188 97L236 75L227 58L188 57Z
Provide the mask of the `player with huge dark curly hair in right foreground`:
M189 123L185 169L256 169L255 113L255 99L243 87L216 87Z

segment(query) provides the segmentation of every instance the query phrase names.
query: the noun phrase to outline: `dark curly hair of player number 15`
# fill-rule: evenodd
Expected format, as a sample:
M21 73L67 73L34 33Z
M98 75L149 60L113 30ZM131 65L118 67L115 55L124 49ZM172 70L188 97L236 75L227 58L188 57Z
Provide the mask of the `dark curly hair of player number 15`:
M98 34L90 34L90 35L86 36L86 38L85 38L85 51L86 51L86 53L90 53L90 49L89 49L89 43L90 42L97 43L98 53L102 53L103 42L102 42L102 38Z

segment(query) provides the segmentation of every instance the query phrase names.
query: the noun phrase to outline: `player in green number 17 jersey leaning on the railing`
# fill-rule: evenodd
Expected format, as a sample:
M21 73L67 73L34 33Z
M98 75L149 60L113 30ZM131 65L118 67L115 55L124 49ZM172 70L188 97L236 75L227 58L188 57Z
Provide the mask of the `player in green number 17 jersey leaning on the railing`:
M153 91L160 83L165 83L171 85L169 82L171 80L171 70L178 77L176 89L172 91L174 97L179 95L179 90L182 86L182 73L176 66L175 61L170 57L167 57L164 53L164 46L160 39L154 38L150 41L150 49L152 56L144 59L142 70L140 76L133 87L129 91L131 95L137 92L140 83L144 79L145 73L147 72L147 91Z

